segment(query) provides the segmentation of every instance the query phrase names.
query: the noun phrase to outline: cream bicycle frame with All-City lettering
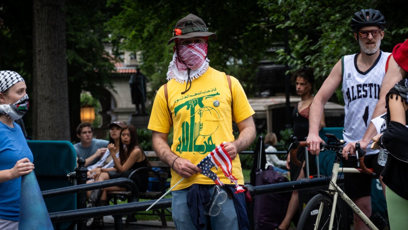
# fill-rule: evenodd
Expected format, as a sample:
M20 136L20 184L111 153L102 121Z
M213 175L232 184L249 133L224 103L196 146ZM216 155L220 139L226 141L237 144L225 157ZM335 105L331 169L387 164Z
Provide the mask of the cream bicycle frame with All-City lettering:
M344 191L342 191L336 184L337 182L337 175L338 173L343 172L343 173L361 173L361 171L359 171L358 169L355 168L340 168L340 161L339 160L335 160L334 164L333 164L333 170L332 170L332 174L331 174L331 178L330 178L330 184L329 184L329 188L328 188L328 193L330 193L331 195L333 195L333 207L331 210L331 215L330 215L330 223L329 223L329 229L333 228L333 221L334 221L334 217L335 217L335 210L336 210L336 204L337 204L337 196L340 196L341 199L344 200L344 202L346 202L346 204L348 204L348 206L350 206L350 208L353 210L353 212L361 218L361 220L364 221L364 223L368 226L368 228L372 229L372 230L378 230L378 228L374 225L373 222L370 221L370 219L368 219L368 217L359 209L359 207L357 207L357 205L350 199L350 197L348 197L346 195L346 193L344 193ZM317 215L317 219L316 219L316 223L315 223L315 230L317 230L317 224L320 221L320 217L321 217L321 213L323 210L323 205L324 204L320 204L319 207L319 213Z

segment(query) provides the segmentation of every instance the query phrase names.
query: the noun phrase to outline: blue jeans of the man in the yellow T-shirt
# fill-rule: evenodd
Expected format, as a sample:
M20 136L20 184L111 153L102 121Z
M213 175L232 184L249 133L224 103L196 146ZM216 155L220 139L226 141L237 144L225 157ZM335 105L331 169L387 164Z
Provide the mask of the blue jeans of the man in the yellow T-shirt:
M214 185L215 186L215 185ZM173 201L171 211L173 212L173 221L178 230L194 230L196 229L191 220L190 212L187 206L187 193L189 188L184 188L177 191L171 191ZM213 186L208 186L210 194L213 193ZM238 230L237 213L235 211L234 201L229 197L225 203L221 205L221 212L211 218L211 228L213 230ZM204 228L206 229L206 228Z

